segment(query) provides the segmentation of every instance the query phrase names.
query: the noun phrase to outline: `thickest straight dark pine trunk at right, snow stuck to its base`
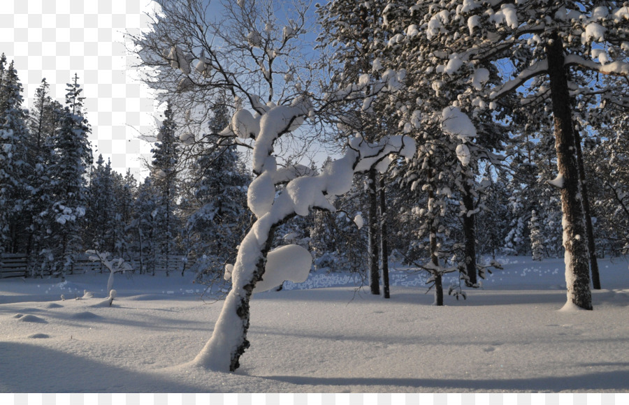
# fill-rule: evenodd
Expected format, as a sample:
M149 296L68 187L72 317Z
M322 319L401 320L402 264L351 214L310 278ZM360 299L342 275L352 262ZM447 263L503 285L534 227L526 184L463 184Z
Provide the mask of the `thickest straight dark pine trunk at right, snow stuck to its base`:
M548 73L553 103L557 168L563 177L561 210L565 248L565 283L567 302L592 309L588 255L585 244L584 216L579 200L579 170L574 142L563 43L555 31L546 45Z

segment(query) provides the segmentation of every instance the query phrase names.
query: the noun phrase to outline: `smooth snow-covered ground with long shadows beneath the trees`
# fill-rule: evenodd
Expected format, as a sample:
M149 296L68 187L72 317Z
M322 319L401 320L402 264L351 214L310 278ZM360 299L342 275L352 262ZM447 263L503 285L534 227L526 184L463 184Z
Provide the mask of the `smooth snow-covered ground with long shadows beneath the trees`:
M594 311L560 311L563 260L502 261L445 307L404 271L391 300L345 274L254 295L229 374L186 365L222 306L191 274L116 274L112 307L108 274L1 279L0 392L629 392L627 260L600 260Z

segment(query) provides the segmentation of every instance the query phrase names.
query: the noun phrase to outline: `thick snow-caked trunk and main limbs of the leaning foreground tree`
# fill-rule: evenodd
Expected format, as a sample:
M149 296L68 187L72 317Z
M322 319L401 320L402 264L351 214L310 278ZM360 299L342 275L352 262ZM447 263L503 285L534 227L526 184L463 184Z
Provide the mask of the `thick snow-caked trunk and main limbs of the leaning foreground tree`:
M287 117L291 113L294 117L296 113L289 108L277 108L277 114L272 114L274 110L272 108L267 113L270 117L268 121L264 119L267 115L261 121L264 123L261 133L265 129L269 131L270 140L284 131L284 127L289 125ZM277 122L271 122L273 118ZM236 263L229 267L232 289L226 297L212 337L192 362L200 367L219 371L238 368L240 355L249 347L246 339L249 327L248 302L254 289L258 290L257 283L261 283L260 289L268 289L284 279L301 280L304 276L308 277L312 257L305 249L286 247L268 252L275 228L296 214L307 215L310 209L335 211L328 198L347 193L352 187L354 172L370 170L382 163L389 154L410 159L415 152L412 138L384 137L373 144L356 138L350 142L345 156L328 163L319 175L296 177L284 191L276 195L273 184L274 174L277 173L275 157L270 156L271 149L266 149L272 145L270 140L260 144L256 142L256 149L262 145L262 150L267 153L262 162L257 161L261 175L252 183L248 194L250 208L258 220L240 243ZM258 159L261 160L261 154Z

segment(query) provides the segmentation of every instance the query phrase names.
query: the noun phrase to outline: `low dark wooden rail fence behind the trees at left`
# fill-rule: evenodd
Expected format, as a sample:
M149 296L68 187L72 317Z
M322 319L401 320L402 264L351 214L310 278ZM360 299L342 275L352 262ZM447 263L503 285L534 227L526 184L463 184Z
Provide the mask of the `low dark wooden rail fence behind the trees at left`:
M140 258L131 258L125 260L133 268L133 272L140 272ZM186 256L173 255L168 256L168 260L164 257L144 258L143 260L146 272L185 272L194 264L193 258ZM99 261L89 260L89 255L82 253L75 258L75 262L70 270L72 273L85 272L108 272L107 268ZM41 263L29 263L29 259L25 253L2 253L0 255L0 279L8 277L26 277L32 274L35 277L50 276L50 269L41 268Z

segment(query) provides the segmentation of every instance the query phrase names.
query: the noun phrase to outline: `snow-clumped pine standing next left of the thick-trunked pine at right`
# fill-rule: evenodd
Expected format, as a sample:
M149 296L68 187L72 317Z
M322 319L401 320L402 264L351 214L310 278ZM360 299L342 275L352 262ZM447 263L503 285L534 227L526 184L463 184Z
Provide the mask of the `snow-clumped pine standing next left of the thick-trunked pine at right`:
M493 122L491 114L480 108L482 103L477 94L496 80L497 70L486 64L470 68L456 54L449 60L447 52L433 52L431 36L424 35L425 27L417 24L417 17L429 13L430 8L428 1L386 4L382 30L387 35L379 46L379 62L385 68L403 68L407 72L409 89L393 104L393 114L398 117L403 133L414 136L420 145L426 145L426 154L418 156L421 160L403 172L410 177L406 184L415 184L413 188L419 186L421 191L424 184L430 187L436 179L440 188L447 186L451 191L433 192L433 198L449 209L458 207L462 244L453 247L461 250L457 254L462 265L461 277L468 286L477 286L475 177L482 161L498 163L501 158L493 149L500 150L500 142L505 137L505 131ZM458 122L460 115L471 119L475 126L473 133L458 133L456 124L450 124ZM421 147L419 150L421 152ZM428 164L433 165L432 170L428 170ZM450 195L447 198L458 199L459 204L448 204L444 199L447 194Z

